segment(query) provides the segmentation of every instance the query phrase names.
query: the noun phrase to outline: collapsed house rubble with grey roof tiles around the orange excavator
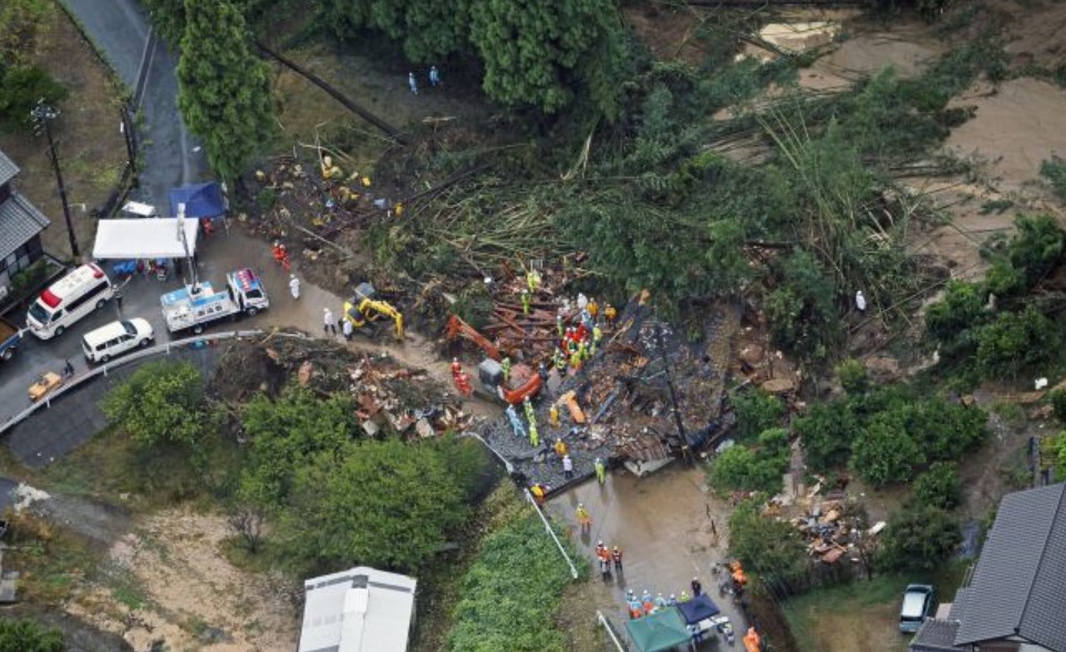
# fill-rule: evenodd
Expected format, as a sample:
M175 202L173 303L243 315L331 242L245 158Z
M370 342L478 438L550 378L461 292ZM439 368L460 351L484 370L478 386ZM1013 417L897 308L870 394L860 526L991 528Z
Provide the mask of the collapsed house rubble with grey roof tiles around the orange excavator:
M728 308L718 310L694 343L658 320L646 299L630 301L607 329L600 352L580 372L562 377L551 370L536 407L538 446L506 418L482 428L529 485L559 489L580 482L594 473L597 458L627 464L640 474L721 439L732 427L726 379L738 315ZM541 328L547 331L547 325ZM547 338L557 341L557 333ZM558 425L551 423L552 406L560 414ZM573 462L572 477L566 476L555 453L560 439Z

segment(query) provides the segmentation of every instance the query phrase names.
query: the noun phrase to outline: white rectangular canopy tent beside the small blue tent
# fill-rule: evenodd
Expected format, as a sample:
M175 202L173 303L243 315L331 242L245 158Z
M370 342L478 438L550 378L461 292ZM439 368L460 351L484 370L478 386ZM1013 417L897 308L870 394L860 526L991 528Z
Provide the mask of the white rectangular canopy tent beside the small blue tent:
M188 255L196 252L196 235L199 222L183 220ZM185 258L186 250L178 238L176 217L149 217L145 219L102 219L96 225L96 260L128 260L131 258Z

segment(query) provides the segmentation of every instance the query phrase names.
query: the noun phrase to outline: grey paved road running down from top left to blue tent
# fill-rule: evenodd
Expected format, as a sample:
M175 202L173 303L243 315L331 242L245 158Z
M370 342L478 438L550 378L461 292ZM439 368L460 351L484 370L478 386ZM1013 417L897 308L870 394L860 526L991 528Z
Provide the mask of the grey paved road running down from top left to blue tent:
M188 134L177 110L175 58L167 44L152 38L144 10L135 0L63 0L71 13L126 86L135 107L143 113L137 137L141 143L141 188L134 197L168 207L167 190L209 178L203 151Z

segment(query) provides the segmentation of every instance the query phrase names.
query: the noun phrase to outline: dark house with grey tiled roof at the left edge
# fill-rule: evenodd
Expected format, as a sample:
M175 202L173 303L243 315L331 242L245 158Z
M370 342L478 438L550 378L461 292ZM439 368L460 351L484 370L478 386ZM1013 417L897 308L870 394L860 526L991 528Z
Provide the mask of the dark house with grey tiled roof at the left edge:
M0 296L11 277L44 255L41 231L51 224L11 186L18 174L19 166L0 152Z

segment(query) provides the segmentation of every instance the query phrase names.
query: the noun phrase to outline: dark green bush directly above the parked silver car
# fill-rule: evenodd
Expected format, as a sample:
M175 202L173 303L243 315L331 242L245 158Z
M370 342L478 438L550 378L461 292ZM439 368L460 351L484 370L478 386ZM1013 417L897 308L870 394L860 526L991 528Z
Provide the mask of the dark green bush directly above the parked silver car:
M950 514L929 505L908 506L889 517L878 565L886 570L933 570L960 541L962 532Z

